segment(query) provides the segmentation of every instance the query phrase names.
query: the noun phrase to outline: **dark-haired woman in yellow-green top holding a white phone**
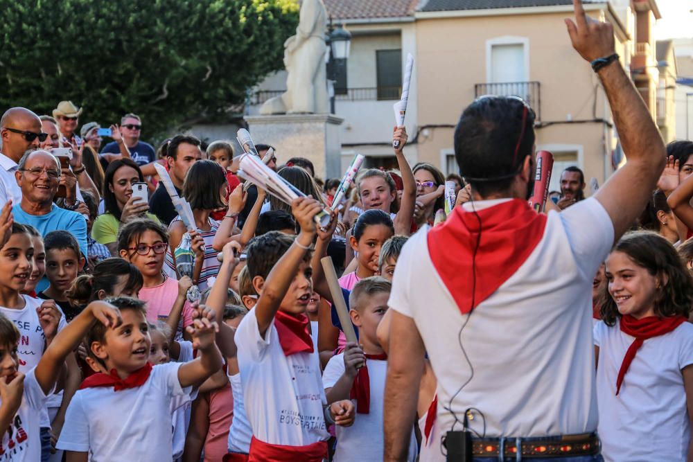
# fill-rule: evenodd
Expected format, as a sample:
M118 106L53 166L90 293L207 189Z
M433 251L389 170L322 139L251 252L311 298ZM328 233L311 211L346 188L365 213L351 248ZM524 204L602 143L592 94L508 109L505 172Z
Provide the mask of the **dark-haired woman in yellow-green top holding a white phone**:
M103 185L103 202L106 213L96 218L91 237L108 247L116 255L116 240L123 223L133 217L145 215L159 222L149 210L149 204L139 197L132 197L132 184L142 182L142 172L131 159L118 159L109 163Z

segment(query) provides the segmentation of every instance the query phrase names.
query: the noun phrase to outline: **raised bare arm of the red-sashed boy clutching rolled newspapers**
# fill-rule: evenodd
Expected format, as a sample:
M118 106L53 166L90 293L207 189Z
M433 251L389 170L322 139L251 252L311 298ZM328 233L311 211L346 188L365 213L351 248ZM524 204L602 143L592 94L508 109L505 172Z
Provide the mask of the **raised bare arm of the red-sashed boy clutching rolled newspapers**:
M313 217L322 210L322 204L312 197L299 197L291 202L291 208L296 222L301 226L301 232L296 236L296 240L286 253L279 258L270 274L267 275L262 294L255 307L258 330L262 337L265 337L267 328L270 327L274 315L277 314L279 305L286 295L307 249L313 244L316 232Z

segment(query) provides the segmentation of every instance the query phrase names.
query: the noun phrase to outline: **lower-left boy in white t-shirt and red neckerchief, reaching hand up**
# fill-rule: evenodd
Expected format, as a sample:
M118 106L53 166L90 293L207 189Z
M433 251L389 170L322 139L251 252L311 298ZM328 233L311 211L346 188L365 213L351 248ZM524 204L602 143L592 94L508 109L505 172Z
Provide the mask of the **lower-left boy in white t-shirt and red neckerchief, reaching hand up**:
M86 461L89 454L94 461L170 461L171 400L222 366L213 314L199 307L198 318L186 328L198 350L196 359L152 367L144 303L125 297L110 302L123 322L114 328L96 326L87 336L91 353L110 373L82 382L67 409L58 449L73 461Z

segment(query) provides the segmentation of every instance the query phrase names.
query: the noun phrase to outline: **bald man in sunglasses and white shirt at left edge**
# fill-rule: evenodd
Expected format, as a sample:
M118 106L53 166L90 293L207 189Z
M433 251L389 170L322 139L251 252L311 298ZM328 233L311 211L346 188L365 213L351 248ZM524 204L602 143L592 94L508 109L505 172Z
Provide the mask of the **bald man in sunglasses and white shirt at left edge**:
M48 134L41 130L39 116L24 107L12 107L0 118L0 204L12 200L19 204L21 188L15 172L19 159L28 150L37 150Z

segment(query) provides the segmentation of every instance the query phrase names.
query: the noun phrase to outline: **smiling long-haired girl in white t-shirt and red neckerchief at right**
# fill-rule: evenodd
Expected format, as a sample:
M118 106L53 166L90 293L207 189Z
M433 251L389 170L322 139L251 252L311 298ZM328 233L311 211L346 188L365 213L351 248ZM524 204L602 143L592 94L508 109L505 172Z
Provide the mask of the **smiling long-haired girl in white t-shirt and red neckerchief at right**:
M606 260L595 325L606 461L683 461L693 409L693 278L655 233L624 236Z

